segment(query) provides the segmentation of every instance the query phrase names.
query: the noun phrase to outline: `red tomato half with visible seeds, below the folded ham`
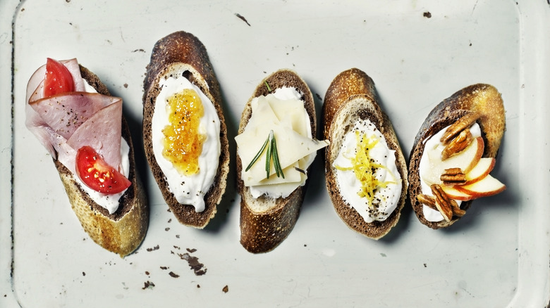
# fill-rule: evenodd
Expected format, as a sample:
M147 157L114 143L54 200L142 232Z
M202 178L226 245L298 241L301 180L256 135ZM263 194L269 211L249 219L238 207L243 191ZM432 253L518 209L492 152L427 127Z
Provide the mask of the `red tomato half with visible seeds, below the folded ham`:
M99 193L120 193L132 184L90 146L78 149L76 172L86 186Z

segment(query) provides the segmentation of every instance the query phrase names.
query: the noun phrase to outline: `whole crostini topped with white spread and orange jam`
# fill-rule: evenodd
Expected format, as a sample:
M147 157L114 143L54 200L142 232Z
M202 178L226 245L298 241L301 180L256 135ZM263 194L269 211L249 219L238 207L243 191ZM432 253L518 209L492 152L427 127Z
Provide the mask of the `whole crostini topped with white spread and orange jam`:
M219 83L202 42L183 31L157 41L144 90L143 142L154 179L178 221L202 229L229 170Z

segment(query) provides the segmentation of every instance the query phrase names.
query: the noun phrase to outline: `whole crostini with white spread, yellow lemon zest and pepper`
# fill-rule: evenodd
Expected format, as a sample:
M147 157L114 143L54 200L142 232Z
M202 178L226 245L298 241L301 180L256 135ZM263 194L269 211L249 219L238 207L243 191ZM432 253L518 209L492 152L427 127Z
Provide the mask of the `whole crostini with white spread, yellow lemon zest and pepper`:
M393 126L362 70L341 72L323 105L326 189L343 222L375 240L401 216L407 165Z

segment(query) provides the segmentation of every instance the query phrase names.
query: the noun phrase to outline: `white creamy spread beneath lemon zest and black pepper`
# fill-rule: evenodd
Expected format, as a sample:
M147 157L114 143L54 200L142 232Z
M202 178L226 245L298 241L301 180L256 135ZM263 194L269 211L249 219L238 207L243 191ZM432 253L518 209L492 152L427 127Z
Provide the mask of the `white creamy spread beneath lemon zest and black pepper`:
M371 140L367 149L374 181L382 185L374 188L372 198L363 195L362 181L357 179L353 160L358 149L358 136ZM401 197L402 179L396 166L395 150L391 150L384 135L370 120L357 120L346 133L342 147L332 166L336 168L336 184L343 200L353 207L367 223L384 221L396 209ZM377 167L374 167L377 166Z

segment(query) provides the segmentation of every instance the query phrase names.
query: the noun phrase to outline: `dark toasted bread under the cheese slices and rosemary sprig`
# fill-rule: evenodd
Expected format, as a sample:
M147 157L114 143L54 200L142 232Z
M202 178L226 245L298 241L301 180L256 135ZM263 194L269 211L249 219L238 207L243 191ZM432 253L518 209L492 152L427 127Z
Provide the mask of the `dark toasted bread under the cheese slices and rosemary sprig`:
M266 86L269 84L269 89ZM314 134L317 123L313 96L307 84L292 70L278 70L264 79L250 97L240 117L238 134L242 134L252 116L252 98L267 96L271 91L282 87L293 87L302 94L302 101L310 117L311 131ZM265 195L253 198L250 187L245 186L240 174L243 162L237 155L237 191L240 199L240 244L249 252L269 252L277 247L291 233L304 200L307 181L296 188L286 198L270 198ZM309 169L308 169L309 171ZM269 209L269 210L265 210Z

